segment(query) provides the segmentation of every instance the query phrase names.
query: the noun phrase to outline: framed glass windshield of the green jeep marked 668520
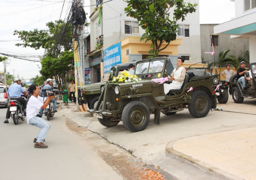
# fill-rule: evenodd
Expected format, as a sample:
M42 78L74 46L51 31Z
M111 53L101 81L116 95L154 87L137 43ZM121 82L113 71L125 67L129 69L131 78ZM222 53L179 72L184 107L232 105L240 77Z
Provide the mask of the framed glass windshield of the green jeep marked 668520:
M136 65L135 74L148 74L163 71L164 60L142 62Z

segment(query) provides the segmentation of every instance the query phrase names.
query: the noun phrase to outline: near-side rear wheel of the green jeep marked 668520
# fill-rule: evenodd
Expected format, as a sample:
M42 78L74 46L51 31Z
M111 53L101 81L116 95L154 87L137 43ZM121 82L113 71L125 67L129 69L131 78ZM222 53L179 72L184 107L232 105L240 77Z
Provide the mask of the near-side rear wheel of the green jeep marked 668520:
M188 103L188 110L193 117L205 117L210 111L209 96L203 91L193 92L191 103Z

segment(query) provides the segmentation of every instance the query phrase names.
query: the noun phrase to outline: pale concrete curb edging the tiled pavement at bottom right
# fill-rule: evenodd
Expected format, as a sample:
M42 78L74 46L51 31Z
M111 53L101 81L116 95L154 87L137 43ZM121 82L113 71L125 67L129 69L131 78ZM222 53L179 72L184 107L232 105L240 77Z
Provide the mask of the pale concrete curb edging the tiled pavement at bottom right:
M203 172L205 172L209 175L212 175L216 178L219 178L221 180L244 180L243 178L237 177L237 176L230 174L230 173L228 173L222 169L219 169L215 166L212 166L212 165L204 163L200 160L194 159L180 151L176 151L175 149L173 149L173 145L177 141L179 141L179 140L170 141L169 143L167 143L166 156L176 158L176 159L182 161L183 163L186 163L190 166L200 169Z

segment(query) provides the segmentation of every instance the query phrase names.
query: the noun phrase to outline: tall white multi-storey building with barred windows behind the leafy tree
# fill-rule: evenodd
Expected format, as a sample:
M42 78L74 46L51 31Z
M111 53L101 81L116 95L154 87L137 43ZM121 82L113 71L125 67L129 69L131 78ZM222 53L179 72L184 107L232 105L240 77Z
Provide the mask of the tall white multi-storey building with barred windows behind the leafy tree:
M194 4L199 3L199 0L185 0L185 2ZM99 3L102 3L102 0L90 1L90 5ZM89 67L91 68L92 83L99 82L103 74L103 50L127 36L140 37L145 32L139 27L137 19L126 16L124 12L126 6L127 3L123 0L113 0L103 3L101 11L99 11L99 9L96 10L96 6L90 7L90 55L87 56L86 59L87 61L89 60ZM178 46L176 54L171 55L175 56L173 59L177 56L184 56L186 60L185 63L187 64L194 64L201 61L199 5L196 9L196 13L188 14L185 17L185 21L178 21L178 24L180 24L180 33L177 39L182 39L182 45ZM97 43L101 43L102 39L103 45L100 49L96 49ZM138 50L137 53L132 54L134 55L132 58L136 57L136 60L144 59L147 55L150 55L147 51L139 52ZM126 53L129 54L129 51ZM170 53L171 52L161 52L161 55L170 56ZM138 54L138 56L136 56L136 54ZM130 57L129 55L129 58Z

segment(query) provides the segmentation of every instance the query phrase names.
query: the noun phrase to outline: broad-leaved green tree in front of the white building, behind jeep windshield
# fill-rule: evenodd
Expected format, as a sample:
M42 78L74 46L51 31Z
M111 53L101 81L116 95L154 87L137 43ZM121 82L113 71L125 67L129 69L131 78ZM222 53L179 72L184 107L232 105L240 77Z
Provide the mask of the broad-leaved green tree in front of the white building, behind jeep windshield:
M139 26L145 29L141 40L151 41L151 57L157 57L158 53L168 47L171 41L176 39L179 25L178 20L185 20L188 13L196 12L197 4L184 3L183 0L126 0L127 16L138 19ZM170 10L173 9L173 10ZM171 14L170 12L173 12ZM170 18L169 18L170 17ZM162 46L166 42L167 45Z

